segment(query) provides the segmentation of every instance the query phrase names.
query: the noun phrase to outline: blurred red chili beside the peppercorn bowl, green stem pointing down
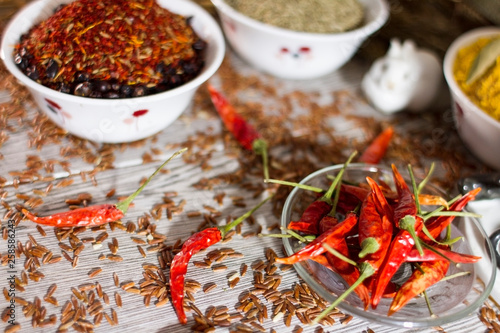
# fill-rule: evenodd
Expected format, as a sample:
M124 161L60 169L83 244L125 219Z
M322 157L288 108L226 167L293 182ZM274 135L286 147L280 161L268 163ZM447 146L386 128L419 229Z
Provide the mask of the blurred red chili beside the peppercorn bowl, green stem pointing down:
M257 155L262 155L264 179L269 179L267 142L211 84L208 85L208 91L215 109L229 132L233 134L244 149L253 150Z

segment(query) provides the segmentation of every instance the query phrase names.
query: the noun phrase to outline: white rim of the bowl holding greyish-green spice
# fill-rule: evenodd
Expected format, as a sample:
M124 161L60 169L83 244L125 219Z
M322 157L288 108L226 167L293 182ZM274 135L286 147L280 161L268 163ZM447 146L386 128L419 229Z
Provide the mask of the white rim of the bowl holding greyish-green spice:
M224 0L211 0L211 1L217 10L220 10L224 14L236 19L237 21L240 21L241 23L244 23L264 33L272 33L285 38L302 38L307 40L328 41L328 40L352 39L352 38L357 38L359 36L368 36L372 34L374 31L378 30L381 26L383 26L387 21L387 19L389 18L389 6L385 0L367 0L369 2L376 2L377 5L380 7L378 15L371 22L365 23L357 29L349 30L346 32L329 33L329 34L310 33L310 32L284 29L270 24L266 24L254 20L238 12L237 10L229 6L227 3L225 3Z

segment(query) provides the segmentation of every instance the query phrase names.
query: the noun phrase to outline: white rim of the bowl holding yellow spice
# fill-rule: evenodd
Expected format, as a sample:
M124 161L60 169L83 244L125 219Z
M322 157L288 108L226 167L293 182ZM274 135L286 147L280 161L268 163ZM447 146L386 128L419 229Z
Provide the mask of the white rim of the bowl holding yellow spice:
M477 114L481 119L487 121L492 126L495 126L500 130L500 121L497 121L493 117L491 117L488 113L481 110L475 103L473 103L469 97L462 91L462 88L458 85L453 77L453 64L455 62L457 52L467 44L471 44L477 38L480 37L488 37L492 35L500 36L500 27L489 26L489 27L480 27L476 29L469 30L464 34L460 35L457 39L455 39L451 45L448 47L446 54L443 60L443 72L446 82L448 83L452 93L456 94L459 98L460 103L464 103L469 109L473 110L475 114Z

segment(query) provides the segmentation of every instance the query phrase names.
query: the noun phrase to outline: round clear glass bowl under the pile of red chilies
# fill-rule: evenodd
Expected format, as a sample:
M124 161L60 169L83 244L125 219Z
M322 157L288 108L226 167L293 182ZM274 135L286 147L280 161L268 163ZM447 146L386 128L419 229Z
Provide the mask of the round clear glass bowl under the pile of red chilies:
M326 189L329 181L327 176L335 176L342 167L343 165L335 165L318 170L301 183ZM407 173L403 170L400 172L411 188ZM393 187L392 170L385 166L351 164L346 168L343 180L366 183L367 176L376 181L384 181ZM424 188L423 193L446 198L444 191L430 184ZM287 227L290 221L298 221L304 209L314 199L315 195L311 191L294 188L283 207L281 225ZM453 245L453 251L482 258L475 264L459 266L451 264L447 275L463 271L469 271L471 274L440 281L426 290L433 314L429 312L425 299L419 296L391 316L387 316L387 312L392 298L383 298L375 310L371 307L364 310L359 297L351 293L338 307L366 320L407 328L439 326L466 317L484 303L493 289L496 261L491 255L494 253L491 242L476 218L456 217L452 224L452 238L458 236L463 236L463 239ZM283 238L283 242L287 255L295 253L303 246L294 238ZM312 260L295 264L294 268L313 290L330 303L347 289L346 282L339 275ZM411 274L410 267L403 265L392 281L401 284L409 274Z

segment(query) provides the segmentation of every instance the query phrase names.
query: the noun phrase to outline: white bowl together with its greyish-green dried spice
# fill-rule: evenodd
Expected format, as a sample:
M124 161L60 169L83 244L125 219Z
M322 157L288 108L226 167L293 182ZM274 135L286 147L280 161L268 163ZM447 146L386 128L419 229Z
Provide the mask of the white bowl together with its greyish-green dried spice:
M389 17L385 0L212 0L233 50L285 79L313 79L348 62Z

